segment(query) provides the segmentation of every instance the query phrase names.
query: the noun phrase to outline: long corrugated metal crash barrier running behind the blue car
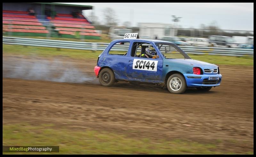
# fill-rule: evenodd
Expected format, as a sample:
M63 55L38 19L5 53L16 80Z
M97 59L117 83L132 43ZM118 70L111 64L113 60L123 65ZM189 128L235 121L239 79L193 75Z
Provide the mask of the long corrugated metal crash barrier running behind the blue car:
M3 44L103 51L108 46L109 43L91 43L91 42L75 42L75 41L63 41L63 40L3 37ZM114 48L113 50L127 51L127 46L128 45L118 45L113 47ZM187 54L208 54L208 55L223 55L223 56L253 57L253 49L195 47L195 46L179 46L179 47Z

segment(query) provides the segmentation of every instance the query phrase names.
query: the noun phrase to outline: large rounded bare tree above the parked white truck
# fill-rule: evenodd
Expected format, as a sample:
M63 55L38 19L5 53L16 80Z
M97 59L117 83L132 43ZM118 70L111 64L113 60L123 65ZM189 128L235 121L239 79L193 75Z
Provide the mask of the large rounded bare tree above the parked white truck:
M116 12L112 8L105 8L103 10L103 16L105 19L105 25L117 25L118 19L116 19Z

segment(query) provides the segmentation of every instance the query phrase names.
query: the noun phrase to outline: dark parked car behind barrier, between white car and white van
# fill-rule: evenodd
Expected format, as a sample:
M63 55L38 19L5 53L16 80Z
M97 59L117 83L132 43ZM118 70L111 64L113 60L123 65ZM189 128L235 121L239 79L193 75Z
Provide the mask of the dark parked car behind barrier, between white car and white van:
M212 47L240 48L239 43L231 37L211 35L209 39Z

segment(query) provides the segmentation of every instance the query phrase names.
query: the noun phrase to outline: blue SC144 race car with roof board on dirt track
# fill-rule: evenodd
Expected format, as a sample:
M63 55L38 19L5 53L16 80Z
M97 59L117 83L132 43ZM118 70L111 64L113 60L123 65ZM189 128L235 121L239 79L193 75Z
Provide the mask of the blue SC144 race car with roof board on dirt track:
M94 72L102 86L118 81L161 83L176 94L220 86L217 65L191 59L172 42L137 38L113 40L99 55ZM144 58L146 50L155 50L155 55Z

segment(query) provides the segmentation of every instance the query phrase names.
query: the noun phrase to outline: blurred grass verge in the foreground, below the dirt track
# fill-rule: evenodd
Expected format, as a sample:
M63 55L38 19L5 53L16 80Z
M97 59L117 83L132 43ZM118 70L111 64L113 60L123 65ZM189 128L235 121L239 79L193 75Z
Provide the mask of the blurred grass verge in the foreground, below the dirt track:
M232 153L219 152L217 146L214 144L200 144L177 139L173 141L145 138L133 139L109 132L97 132L92 130L72 131L56 127L52 124L30 125L25 123L3 125L3 146L60 146L60 152L53 154Z

